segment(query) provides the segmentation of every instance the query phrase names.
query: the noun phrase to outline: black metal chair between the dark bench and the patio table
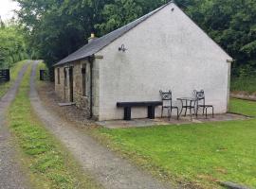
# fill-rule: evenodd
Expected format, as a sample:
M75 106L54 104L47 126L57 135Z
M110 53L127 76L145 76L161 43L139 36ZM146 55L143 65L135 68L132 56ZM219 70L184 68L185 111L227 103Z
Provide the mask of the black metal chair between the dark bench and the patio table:
M178 107L173 106L172 91L170 90L169 92L162 92L162 91L159 91L159 92L160 92L162 102L163 102L161 117L163 117L163 111L165 109L167 109L168 110L168 117L169 117L169 120L170 120L171 117L172 117L173 109L176 109L177 110L177 119L178 119L179 111L178 111Z

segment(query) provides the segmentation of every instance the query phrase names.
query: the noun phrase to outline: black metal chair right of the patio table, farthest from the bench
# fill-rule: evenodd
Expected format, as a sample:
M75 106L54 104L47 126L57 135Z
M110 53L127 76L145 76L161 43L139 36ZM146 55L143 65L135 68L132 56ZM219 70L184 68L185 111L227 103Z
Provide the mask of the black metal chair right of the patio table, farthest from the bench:
M214 108L213 108L212 105L207 105L206 104L206 98L205 98L204 90L201 90L201 91L194 90L193 93L194 93L194 95L197 99L197 101L196 101L196 117L198 115L198 110L200 108L203 108L203 115L206 114L206 118L207 118L207 115L208 115L208 109L211 109L212 117L214 117ZM199 104L200 101L203 101L203 103Z

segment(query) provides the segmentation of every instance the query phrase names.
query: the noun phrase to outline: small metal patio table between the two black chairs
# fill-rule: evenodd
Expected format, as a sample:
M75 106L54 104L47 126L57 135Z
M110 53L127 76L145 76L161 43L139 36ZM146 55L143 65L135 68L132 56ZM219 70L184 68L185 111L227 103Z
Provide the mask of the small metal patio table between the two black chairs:
M181 102L181 111L179 113L179 115L181 115L181 113L183 112L183 110L185 109L185 115L187 115L187 111L188 109L190 110L190 114L191 114L191 118L192 118L192 110L194 112L194 114L196 114L196 110L195 110L195 105L196 105L196 101L197 98L194 97L179 97L177 98L177 100L179 100Z

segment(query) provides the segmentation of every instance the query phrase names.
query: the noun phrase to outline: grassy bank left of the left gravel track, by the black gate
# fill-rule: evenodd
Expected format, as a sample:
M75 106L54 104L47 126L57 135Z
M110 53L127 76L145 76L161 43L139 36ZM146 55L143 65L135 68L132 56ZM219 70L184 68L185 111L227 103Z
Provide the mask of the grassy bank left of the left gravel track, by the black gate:
M16 80L26 60L19 61L10 68L10 81L0 84L0 98L7 93L11 84Z

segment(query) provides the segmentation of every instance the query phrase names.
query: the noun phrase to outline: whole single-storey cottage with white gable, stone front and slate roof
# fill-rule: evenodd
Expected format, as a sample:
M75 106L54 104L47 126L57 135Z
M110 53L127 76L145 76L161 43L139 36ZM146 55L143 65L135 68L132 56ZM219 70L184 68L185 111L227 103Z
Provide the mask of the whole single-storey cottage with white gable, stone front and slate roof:
M204 89L215 113L229 104L231 57L174 3L123 26L55 64L55 90L98 120L123 118L117 102L157 101L159 90L175 99ZM155 110L160 115L161 108ZM146 107L133 108L145 118Z

